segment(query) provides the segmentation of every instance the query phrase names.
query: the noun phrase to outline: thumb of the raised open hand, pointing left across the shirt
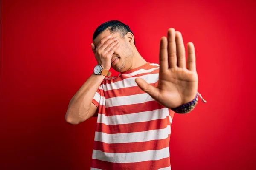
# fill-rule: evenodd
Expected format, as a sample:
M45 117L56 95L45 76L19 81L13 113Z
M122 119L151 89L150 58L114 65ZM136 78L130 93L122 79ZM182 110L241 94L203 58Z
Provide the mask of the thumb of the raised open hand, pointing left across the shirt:
M148 93L153 99L157 100L159 96L159 89L154 86L148 84L145 80L141 78L135 79L137 85L141 88L141 90Z

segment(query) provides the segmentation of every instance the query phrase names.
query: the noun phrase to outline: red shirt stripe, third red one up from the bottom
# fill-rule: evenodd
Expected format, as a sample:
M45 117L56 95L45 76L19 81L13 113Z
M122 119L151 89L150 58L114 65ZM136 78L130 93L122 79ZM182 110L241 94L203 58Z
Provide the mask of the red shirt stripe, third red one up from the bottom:
M169 116L164 119L119 125L106 125L104 123L97 123L96 131L108 134L144 132L148 130L164 129L167 127L167 125L170 125Z

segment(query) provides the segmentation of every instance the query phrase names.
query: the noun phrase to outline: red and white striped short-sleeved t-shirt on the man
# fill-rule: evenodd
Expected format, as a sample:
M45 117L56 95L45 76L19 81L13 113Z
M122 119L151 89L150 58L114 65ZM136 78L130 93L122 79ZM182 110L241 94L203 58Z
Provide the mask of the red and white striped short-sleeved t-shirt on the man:
M169 140L174 112L142 91L140 77L157 86L159 65L106 77L93 103L99 108L91 170L170 170Z

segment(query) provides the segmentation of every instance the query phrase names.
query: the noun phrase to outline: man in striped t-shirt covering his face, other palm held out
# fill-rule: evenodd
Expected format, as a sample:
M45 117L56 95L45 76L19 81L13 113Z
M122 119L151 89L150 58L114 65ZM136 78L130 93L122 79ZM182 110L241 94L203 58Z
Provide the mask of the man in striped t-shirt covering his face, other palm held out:
M170 170L174 111L190 112L200 96L192 42L187 68L183 39L174 28L161 38L160 66L141 57L132 31L120 21L100 25L91 46L98 65L66 113L74 125L98 117L91 170ZM106 77L111 67L118 77Z

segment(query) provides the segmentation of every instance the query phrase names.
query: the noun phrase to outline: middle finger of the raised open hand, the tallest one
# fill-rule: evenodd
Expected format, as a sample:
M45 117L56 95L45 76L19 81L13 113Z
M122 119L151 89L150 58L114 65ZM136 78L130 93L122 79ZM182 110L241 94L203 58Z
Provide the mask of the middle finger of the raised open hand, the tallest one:
M174 28L170 28L168 30L168 62L169 62L169 68L175 68L177 66L175 29Z

